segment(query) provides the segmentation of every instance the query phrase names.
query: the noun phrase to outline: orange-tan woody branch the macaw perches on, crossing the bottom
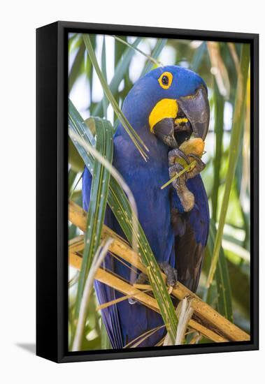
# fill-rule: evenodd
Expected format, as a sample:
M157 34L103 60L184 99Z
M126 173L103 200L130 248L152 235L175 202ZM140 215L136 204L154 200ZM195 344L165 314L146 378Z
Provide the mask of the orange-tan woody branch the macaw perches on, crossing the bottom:
M85 232L87 214L74 202L69 202L69 221ZM102 238L105 237L113 237L114 239L113 243L110 244L109 249L112 253L115 253L115 255L146 273L145 266L141 263L139 256L130 248L129 244L125 242L124 239L107 226L103 226L102 230ZM78 256L77 253L83 250L83 246L83 236L72 239L69 242L69 264L77 269L80 269L82 263L82 258ZM164 281L166 281L166 275L162 273L162 276ZM125 295L136 295L136 300L142 302L154 311L159 312L159 307L154 297L151 297L146 293L141 293L141 290L122 281L117 278L117 276L110 274L110 272L106 272L99 268L98 272L96 272L96 279L112 286ZM195 316L189 321L189 326L208 339L215 342L250 340L249 334L231 323L227 318L224 318L224 316L220 315L220 313L215 311L215 309L210 307L206 302L203 302L181 283L177 283L176 287L173 288L171 295L178 300L183 300L185 297L192 297L192 308L194 309Z

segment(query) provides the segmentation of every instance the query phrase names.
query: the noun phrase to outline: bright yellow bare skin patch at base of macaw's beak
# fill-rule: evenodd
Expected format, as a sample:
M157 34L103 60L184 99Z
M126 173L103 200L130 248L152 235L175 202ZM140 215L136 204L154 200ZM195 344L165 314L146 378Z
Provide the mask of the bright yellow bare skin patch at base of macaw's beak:
M160 100L149 115L150 131L153 131L155 124L163 119L176 119L178 115L178 104L173 98Z

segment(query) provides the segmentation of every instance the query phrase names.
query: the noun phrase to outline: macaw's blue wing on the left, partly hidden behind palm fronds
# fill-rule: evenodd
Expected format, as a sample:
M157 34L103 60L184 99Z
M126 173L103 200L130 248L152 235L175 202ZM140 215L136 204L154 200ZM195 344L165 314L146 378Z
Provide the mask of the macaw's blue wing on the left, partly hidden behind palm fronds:
M89 201L90 201L90 191L91 191L91 185L92 185L92 176L85 168L85 171L83 173L83 208L85 211L88 210L89 207ZM111 214L110 209L106 208L106 224L110 226L111 223L109 222L111 220ZM113 258L111 258L109 255L106 256L104 260L104 267L109 270L113 270ZM96 296L99 301L99 304L103 304L106 302L110 302L115 300L117 297L115 297L115 290L113 288L110 288L109 286L106 286L106 284L100 283L99 281L95 281L94 288L96 290ZM123 347L123 341L122 341L122 332L120 327L120 318L117 311L116 305L111 305L110 307L103 309L101 311L101 315L103 318L103 323L106 327L106 331L108 333L108 337L110 338L111 345L113 348L122 348Z

